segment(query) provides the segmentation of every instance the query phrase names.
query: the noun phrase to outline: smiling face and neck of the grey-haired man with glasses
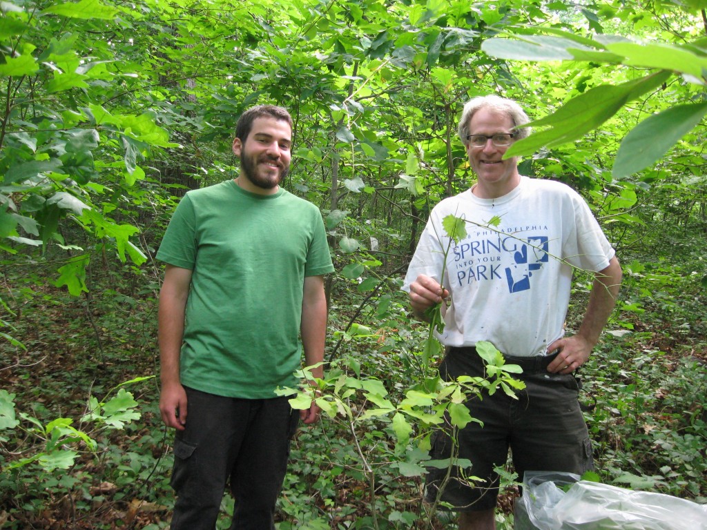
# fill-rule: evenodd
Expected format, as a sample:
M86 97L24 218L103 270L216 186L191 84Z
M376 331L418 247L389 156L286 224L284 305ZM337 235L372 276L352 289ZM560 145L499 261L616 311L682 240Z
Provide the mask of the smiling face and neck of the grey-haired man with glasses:
M469 121L469 134L492 136L499 133L512 133L513 119L507 114L489 107L482 107L474 112ZM497 199L510 193L520 183L518 158L502 160L510 146L496 147L487 140L484 147L474 147L466 142L469 165L479 177L479 182L472 189L474 195L482 199Z

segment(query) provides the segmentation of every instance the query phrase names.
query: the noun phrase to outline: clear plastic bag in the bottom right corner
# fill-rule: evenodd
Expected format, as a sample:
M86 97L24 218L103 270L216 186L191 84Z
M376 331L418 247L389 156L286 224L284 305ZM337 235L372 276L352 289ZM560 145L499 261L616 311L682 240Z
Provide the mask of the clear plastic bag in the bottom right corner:
M707 505L573 473L529 471L514 519L515 530L707 530Z

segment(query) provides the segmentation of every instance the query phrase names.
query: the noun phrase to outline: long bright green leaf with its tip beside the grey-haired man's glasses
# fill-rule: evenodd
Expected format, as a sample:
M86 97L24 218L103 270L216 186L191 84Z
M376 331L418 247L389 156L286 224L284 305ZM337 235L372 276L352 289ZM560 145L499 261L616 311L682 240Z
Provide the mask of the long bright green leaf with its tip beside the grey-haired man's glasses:
M660 86L670 75L668 71L661 71L618 86L592 88L568 101L554 114L528 124L533 127L550 126L550 129L537 131L514 143L504 158L530 155L542 147L554 147L579 139L616 114L627 102Z

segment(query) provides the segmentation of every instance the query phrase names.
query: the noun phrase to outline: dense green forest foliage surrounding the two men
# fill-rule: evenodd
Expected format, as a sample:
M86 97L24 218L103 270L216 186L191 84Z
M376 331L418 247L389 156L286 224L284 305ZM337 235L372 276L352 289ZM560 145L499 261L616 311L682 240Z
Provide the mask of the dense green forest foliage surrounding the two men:
M706 8L1 2L0 527L168 526L154 255L185 191L238 174L235 122L267 102L295 119L284 185L336 267L327 414L293 442L279 529L451 528L421 476L454 398L399 288L431 207L473 182L455 130L487 93L534 120L522 174L578 190L624 268L581 374L597 479L707 502ZM522 477L503 477L510 529Z

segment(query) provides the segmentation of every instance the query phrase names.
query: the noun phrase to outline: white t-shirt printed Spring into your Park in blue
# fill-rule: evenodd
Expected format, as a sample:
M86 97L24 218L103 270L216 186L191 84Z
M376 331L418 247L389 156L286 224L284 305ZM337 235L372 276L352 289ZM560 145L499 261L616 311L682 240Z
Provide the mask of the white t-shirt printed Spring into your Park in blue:
M457 244L443 228L462 218L467 237ZM447 264L444 254L448 250ZM506 355L547 355L564 334L573 267L597 272L614 257L584 199L551 180L520 177L512 192L479 199L467 190L444 199L428 219L403 290L425 274L450 293L445 346L489 341Z

